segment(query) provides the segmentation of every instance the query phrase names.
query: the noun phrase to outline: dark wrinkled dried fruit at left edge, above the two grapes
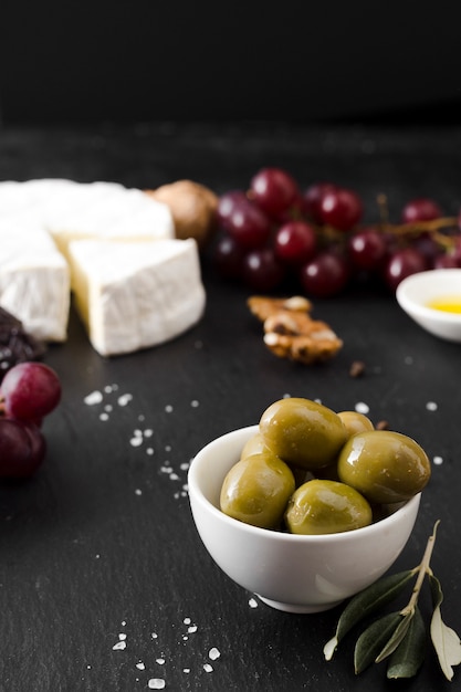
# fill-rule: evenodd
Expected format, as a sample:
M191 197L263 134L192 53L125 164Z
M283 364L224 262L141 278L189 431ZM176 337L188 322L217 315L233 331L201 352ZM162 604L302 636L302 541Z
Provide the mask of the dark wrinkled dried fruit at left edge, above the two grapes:
M28 334L20 319L0 307L0 382L13 365L40 360L45 350L45 344Z

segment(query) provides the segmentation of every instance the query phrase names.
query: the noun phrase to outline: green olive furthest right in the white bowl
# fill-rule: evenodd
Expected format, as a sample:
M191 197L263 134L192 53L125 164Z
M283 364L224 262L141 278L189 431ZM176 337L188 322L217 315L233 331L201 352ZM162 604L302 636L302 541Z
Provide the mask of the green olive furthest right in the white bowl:
M394 503L421 492L431 469L426 452L411 438L373 430L347 440L339 453L338 474L370 502Z

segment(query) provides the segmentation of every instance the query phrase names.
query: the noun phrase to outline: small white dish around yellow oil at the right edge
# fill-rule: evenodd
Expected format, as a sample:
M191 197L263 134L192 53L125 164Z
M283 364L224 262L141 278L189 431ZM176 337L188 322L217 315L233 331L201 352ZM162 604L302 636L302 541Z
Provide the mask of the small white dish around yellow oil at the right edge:
M458 297L461 303L461 269L438 269L407 276L397 287L402 310L430 334L461 343L461 314L428 307L433 300Z

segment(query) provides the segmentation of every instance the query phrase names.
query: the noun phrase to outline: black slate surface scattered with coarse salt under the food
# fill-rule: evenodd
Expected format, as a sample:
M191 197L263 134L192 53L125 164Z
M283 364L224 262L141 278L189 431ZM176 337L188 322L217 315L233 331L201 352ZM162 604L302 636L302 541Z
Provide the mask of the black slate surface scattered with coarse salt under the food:
M392 212L425 193L454 213L460 140L457 128L8 128L0 130L0 179L155 187L191 177L224 191L273 164L304 186L347 182L369 218L381 190ZM392 296L354 290L315 302L314 315L345 345L332 363L303 367L265 349L248 291L221 282L208 258L203 277L206 314L174 342L104 359L72 312L67 343L45 356L64 391L45 421L46 462L24 485L0 485L2 692L127 692L149 689L154 679L179 692L390 689L383 665L355 677L352 639L324 662L340 609L296 616L253 602L212 563L195 530L186 485L191 458L214 437L256 422L285 394L336 410L365 402L375 422L389 421L431 459L442 458L395 567L419 562L440 518L432 565L446 618L461 629L460 347L422 332ZM354 360L365 361L363 377L350 377ZM91 405L95 391L102 400ZM420 675L398 686L454 690L455 675L444 683L429 651Z

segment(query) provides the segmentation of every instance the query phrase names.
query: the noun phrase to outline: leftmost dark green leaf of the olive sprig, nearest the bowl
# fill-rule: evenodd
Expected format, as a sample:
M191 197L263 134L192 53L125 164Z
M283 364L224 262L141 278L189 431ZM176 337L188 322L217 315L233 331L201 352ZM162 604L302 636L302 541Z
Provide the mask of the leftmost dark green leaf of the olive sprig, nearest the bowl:
M329 661L333 658L339 641L357 622L394 600L404 590L413 575L413 569L407 569L395 575L381 577L354 596L339 617L335 636L324 647L325 659Z

